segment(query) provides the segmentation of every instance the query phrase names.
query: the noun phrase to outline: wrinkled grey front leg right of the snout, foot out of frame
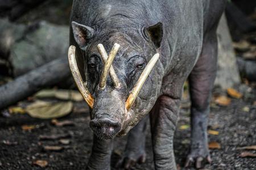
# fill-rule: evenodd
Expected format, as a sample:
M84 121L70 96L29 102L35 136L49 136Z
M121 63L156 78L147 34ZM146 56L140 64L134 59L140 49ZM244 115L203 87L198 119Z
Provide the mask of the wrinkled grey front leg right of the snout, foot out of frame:
M176 169L173 139L180 99L160 96L150 114L155 169Z

